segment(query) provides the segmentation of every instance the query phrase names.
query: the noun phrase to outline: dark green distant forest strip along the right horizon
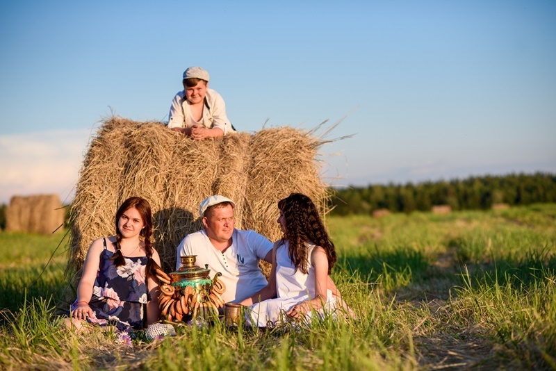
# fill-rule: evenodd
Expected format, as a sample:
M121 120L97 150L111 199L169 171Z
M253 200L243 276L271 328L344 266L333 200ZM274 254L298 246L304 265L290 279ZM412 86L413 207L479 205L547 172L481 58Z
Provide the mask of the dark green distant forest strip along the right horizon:
M493 204L528 205L556 202L556 174L473 176L464 180L427 181L405 185L370 185L332 189L332 215L430 211L449 205L452 210L491 208Z

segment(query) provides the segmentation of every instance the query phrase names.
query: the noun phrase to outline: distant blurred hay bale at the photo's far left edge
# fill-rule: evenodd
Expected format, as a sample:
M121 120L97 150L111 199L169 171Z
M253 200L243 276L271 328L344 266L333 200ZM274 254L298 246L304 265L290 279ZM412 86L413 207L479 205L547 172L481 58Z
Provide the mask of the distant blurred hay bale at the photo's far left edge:
M63 231L65 211L58 195L14 196L6 210L6 231L54 233Z

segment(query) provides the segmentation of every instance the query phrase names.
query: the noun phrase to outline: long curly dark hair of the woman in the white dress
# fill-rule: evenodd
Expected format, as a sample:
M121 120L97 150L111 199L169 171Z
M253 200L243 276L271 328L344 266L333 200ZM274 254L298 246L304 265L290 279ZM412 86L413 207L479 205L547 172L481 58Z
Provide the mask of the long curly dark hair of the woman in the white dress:
M295 269L308 273L309 256L305 242L313 242L325 249L328 258L328 274L336 263L336 249L326 232L313 201L301 193L292 193L278 201L278 208L286 219L286 233L283 240L290 244L289 256Z

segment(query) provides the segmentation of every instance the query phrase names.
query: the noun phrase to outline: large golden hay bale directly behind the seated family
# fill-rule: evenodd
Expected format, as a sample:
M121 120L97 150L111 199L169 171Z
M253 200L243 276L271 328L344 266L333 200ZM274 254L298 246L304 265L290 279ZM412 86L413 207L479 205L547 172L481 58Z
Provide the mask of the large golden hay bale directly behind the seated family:
M174 270L183 237L201 229L199 203L210 195L236 202L236 228L270 240L281 236L277 201L291 192L311 197L324 216L327 186L316 157L325 142L288 127L199 142L159 122L111 117L92 140L76 186L68 272L81 275L90 243L115 233L117 207L131 196L152 206L155 247L166 271Z

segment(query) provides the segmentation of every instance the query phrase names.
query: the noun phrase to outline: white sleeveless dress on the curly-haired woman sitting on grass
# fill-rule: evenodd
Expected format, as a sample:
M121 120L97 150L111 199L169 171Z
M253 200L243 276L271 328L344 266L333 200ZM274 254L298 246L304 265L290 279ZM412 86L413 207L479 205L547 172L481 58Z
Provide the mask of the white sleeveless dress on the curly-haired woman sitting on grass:
M288 319L286 312L295 304L316 297L315 292L315 267L311 265L311 253L315 245L307 244L309 251L308 274L295 270L295 266L288 256L288 241L277 248L276 251L276 299L268 299L252 304L246 311L246 323L249 326L267 327L269 324L285 322ZM336 298L331 290L327 290L325 305L318 311L321 314L331 313L336 307ZM311 318L311 312L307 313Z

